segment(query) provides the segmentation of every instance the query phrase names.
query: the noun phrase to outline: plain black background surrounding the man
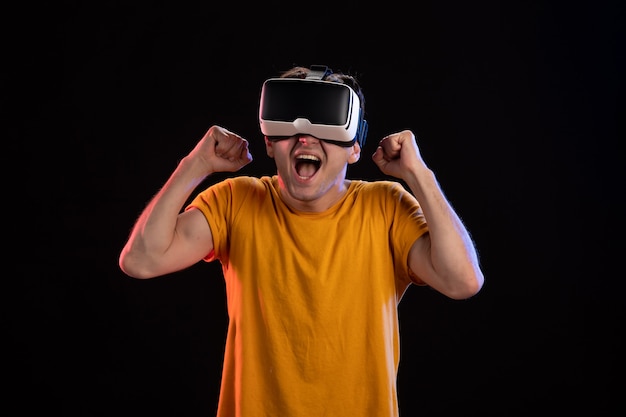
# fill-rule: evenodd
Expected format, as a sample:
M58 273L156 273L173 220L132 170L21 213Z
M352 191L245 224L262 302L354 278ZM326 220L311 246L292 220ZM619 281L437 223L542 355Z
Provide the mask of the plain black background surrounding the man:
M227 324L219 265L139 281L117 257L212 124L250 140L255 160L241 174L272 174L260 86L311 64L364 89L370 131L349 175L382 178L376 142L412 129L486 275L467 301L407 291L401 415L623 413L621 16L617 1L6 13L5 204L19 213L6 225L17 237L5 288L19 284L4 293L10 415L214 414Z

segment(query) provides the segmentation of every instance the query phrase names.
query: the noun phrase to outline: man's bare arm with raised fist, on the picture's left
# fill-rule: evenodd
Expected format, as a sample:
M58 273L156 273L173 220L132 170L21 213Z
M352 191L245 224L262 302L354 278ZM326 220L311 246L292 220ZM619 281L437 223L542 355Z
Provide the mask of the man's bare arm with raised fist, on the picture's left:
M212 250L211 229L196 210L181 213L183 204L207 176L235 172L251 161L247 140L211 126L137 219L120 253L120 268L135 278L152 278L202 259Z

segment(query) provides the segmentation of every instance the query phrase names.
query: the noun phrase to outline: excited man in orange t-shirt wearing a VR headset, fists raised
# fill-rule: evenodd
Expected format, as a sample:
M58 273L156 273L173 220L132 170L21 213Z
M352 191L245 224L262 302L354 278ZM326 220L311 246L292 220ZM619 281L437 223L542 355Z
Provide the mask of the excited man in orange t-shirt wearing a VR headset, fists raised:
M453 299L483 285L470 236L410 131L372 156L399 182L346 179L367 133L354 79L296 67L264 83L259 119L277 174L216 172L252 161L248 142L209 128L137 219L120 255L131 277L200 260L226 281L218 416L397 416L397 306L412 283Z

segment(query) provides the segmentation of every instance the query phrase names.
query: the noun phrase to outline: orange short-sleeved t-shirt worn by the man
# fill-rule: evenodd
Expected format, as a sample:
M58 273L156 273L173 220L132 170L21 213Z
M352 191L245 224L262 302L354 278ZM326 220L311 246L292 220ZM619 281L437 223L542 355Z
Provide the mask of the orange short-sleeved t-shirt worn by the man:
M322 213L298 212L278 179L201 192L226 281L219 417L397 416L397 305L427 226L399 183L353 180Z

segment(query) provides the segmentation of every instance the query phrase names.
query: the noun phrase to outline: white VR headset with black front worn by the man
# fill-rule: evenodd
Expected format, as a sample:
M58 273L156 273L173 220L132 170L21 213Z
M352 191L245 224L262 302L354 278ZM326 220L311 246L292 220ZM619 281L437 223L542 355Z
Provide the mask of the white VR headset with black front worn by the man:
M332 74L313 65L306 79L270 78L263 83L259 106L261 132L269 140L308 134L339 146L363 147L367 122L361 101L346 84L323 81Z

